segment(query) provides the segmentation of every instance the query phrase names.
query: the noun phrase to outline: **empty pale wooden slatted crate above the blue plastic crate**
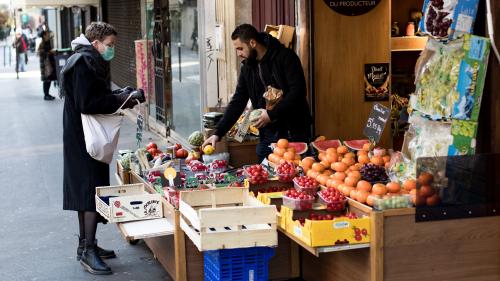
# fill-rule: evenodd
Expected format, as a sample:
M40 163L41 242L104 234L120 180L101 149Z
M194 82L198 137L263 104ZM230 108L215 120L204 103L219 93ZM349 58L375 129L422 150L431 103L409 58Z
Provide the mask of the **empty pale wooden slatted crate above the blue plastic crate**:
M181 192L181 228L200 251L276 246L276 208L248 188Z

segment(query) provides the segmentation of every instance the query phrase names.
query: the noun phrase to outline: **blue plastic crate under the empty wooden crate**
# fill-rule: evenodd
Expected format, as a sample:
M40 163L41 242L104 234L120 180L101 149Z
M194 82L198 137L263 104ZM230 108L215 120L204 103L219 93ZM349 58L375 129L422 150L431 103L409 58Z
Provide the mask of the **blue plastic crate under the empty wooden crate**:
M272 256L269 247L206 251L205 281L267 281Z

